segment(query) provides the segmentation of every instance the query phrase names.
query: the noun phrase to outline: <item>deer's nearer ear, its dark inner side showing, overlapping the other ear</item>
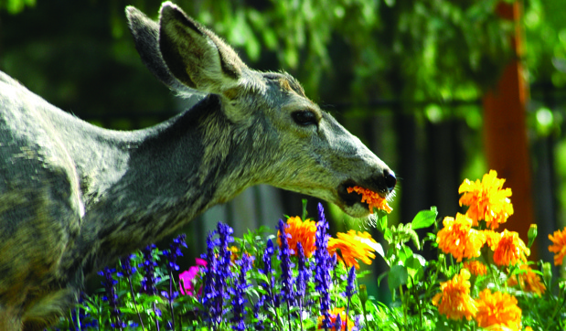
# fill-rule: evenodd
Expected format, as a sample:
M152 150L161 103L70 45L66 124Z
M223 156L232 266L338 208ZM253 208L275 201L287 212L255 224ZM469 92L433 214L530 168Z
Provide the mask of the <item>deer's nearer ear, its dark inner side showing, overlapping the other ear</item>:
M177 80L207 93L235 87L247 69L230 46L170 2L159 14L159 50Z

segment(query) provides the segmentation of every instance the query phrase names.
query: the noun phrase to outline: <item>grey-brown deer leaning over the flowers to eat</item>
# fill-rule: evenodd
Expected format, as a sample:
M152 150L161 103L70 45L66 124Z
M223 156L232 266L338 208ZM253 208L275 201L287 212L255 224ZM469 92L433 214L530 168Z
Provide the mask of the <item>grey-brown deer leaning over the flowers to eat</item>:
M390 198L394 172L304 95L290 74L249 69L171 2L126 16L145 66L196 105L135 131L102 129L0 72L0 330L42 330L85 278L257 184L336 204Z

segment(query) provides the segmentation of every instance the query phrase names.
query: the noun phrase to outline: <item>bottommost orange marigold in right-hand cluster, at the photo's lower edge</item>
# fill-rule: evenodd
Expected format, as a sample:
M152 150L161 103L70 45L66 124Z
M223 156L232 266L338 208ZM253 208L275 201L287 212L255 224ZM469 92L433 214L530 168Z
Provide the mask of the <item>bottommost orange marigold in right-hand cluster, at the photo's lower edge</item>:
M485 289L475 303L477 326L489 327L489 330L520 330L522 312L515 296L500 292L492 294Z

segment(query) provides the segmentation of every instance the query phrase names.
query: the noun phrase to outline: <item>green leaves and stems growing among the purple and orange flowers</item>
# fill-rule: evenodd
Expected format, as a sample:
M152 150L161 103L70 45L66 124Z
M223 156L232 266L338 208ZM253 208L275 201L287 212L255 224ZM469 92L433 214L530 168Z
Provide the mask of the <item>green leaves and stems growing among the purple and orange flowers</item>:
M439 312L438 307L433 304L433 297L442 292L439 286L446 280L450 280L454 275L463 270L462 263L449 262L446 256L439 252L436 259L426 261L417 252L413 251L408 242L413 242L413 235L410 234L412 227L424 228L433 226L437 229L437 211L436 208L430 210L422 210L413 219L412 226L388 226L387 218L380 215L378 218L378 228L384 232L384 237L388 240L389 249L383 254L386 261L390 263L390 270L384 272L380 279L387 276L390 292L393 294L394 302L389 306L377 301L374 297L368 296L365 285L357 286L357 293L350 301L344 295L347 281L347 269L342 263L337 263L332 274L331 298L333 307L348 307L348 315L351 320L357 320L359 326L364 329L379 329L385 331L397 330L471 330L478 329L474 320L468 321L465 318L451 319ZM385 235L389 232L389 235ZM238 261L244 254L254 257L253 267L248 273L247 279L251 286L246 289L245 295L248 300L246 305L246 326L252 329L252 325L259 322L253 311L253 304L257 303L262 295L269 295L270 288L272 293L281 293L281 284L278 282L281 274L281 261L276 259L277 252L273 255L272 279L266 274L260 272L262 270L262 255L265 251L266 240L275 240L272 230L262 227L258 230L249 230L241 239L236 238L233 244L235 249L232 250L233 257ZM433 233L429 233L425 240L435 241L436 237ZM414 243L414 242L413 242ZM415 245L416 246L416 245ZM277 248L276 248L277 250ZM216 251L218 254L219 252ZM165 263L162 252L155 250L154 258L160 264ZM452 260L452 259L450 259ZM142 264L144 261L143 254L137 253L133 258L133 265ZM296 257L292 262L295 263L294 276L297 276ZM309 259L311 268L315 261ZM501 291L506 294L512 294L518 300L518 307L522 310L522 326L531 326L534 330L561 330L566 317L566 281L559 279L552 282L550 268L543 267L545 272L539 272L537 266L541 263L530 263L534 272L542 275L543 283L548 289L557 288L558 293L553 294L552 291L546 291L542 295L529 293L529 289L521 289L512 286L506 282L507 279L516 278L526 271L518 268L518 266L509 266L508 268L489 265L489 271L485 275L476 275L471 279L470 295L477 297L479 292L484 288L491 288L492 291ZM548 264L548 263L543 263ZM239 273L239 264L232 263L232 271ZM168 291L169 277L165 267L158 266L155 268L157 276L161 277L161 281L157 283L158 293L156 295L146 295L138 293L137 289L142 281L142 274L138 270L131 278L133 289L130 291L130 281L125 277L115 277L117 280L116 289L119 301L122 306L119 308L123 316L123 321L127 321L126 329L141 330L140 318L144 323L145 329L156 329L157 324L161 327L166 326L172 315L168 309L167 300L164 292ZM360 272L357 277L362 278L368 272ZM196 282L196 290L203 286L203 272L198 273ZM179 284L174 282L174 288L177 291ZM236 286L233 280L229 280L230 286ZM267 285L265 285L267 284ZM469 285L468 285L469 286ZM108 301L104 300L105 294L101 291L92 294L78 305L78 309L70 312L67 318L61 320L59 328L75 329L79 327L82 330L99 329L110 330L112 308ZM310 307L285 306L265 304L263 309L266 313L262 315L262 324L270 326L273 330L315 330L320 329L318 326L317 305L320 300L320 294L315 290L315 283L311 281L307 284L306 294L304 294L304 303L310 302ZM456 299L454 299L456 300ZM205 309L201 304L198 296L180 295L171 305L174 315L176 316L176 329L178 330L210 330L208 323L203 321L198 311ZM225 307L227 314L223 317L222 323L214 326L215 330L229 330L230 313L233 308L230 302ZM160 314L155 314L159 310ZM301 317L297 316L302 312ZM84 316L86 315L86 317ZM549 318L550 316L550 318ZM96 320L98 323L92 324Z

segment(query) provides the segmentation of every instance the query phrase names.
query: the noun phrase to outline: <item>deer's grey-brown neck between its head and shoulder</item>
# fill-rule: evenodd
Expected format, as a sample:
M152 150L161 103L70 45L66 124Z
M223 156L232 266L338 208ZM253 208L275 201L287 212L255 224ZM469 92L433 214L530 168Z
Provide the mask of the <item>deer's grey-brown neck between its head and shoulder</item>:
M114 165L113 175L86 193L91 202L75 252L86 256L84 272L159 240L255 184L242 165L251 133L227 121L220 107L219 98L209 96L166 123L112 143L116 159L101 162Z

